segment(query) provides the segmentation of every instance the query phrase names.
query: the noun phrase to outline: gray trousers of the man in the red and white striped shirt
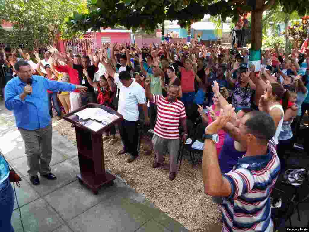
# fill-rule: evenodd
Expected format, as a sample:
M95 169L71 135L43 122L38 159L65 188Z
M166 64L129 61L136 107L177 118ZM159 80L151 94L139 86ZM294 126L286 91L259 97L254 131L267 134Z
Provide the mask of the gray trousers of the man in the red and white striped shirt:
M177 155L179 151L179 139L163 139L158 135L153 135L152 144L156 154L155 161L161 163L163 161L163 150L167 146L170 153L170 172L176 172L177 170Z

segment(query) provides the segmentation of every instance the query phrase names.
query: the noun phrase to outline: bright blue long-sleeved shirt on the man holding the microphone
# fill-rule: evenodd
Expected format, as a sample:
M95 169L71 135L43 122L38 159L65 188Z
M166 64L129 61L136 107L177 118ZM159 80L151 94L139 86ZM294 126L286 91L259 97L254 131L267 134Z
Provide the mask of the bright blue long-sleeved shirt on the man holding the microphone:
M32 75L32 94L24 101L19 98L26 83L14 77L5 86L5 107L13 110L16 126L34 131L50 124L49 101L47 90L52 92L74 91L75 85L48 80L42 76Z

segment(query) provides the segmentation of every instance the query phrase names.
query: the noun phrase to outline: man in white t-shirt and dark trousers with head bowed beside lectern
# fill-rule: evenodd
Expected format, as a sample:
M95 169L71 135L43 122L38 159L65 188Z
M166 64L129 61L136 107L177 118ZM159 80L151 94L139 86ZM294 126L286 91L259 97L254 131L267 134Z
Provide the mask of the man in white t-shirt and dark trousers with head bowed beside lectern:
M128 163L133 162L138 156L138 104L142 105L145 114L145 124L149 125L147 101L145 90L135 80L131 79L131 75L127 71L114 74L115 82L121 82L119 93L118 112L123 115L119 133L123 142L124 148L118 154L130 153Z

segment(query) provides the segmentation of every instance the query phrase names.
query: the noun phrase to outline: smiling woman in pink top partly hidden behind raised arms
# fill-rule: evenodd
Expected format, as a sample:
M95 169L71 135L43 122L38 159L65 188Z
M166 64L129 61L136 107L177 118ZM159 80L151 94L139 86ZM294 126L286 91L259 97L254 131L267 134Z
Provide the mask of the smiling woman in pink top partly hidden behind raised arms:
M219 92L222 95L222 97L224 97L225 99L229 97L229 92L227 91L226 88L224 87L220 88ZM198 108L198 112L201 114L203 121L207 123L208 125L212 123L214 120L216 120L217 117L219 117L220 110L222 109L222 106L220 105L217 94L214 94L213 102L214 102L214 105L212 105L211 107L207 107L208 109L207 115L203 114L203 107ZM216 144L216 148L217 148L217 154L219 155L221 152L222 146L223 146L226 132L223 130L220 130L218 132L218 135L219 135L219 143Z

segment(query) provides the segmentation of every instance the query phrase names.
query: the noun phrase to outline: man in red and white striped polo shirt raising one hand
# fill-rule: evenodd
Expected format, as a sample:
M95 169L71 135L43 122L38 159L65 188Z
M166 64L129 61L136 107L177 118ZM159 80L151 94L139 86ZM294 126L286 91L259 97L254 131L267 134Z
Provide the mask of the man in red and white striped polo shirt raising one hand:
M170 174L168 177L170 180L174 180L176 177L177 154L179 150L179 121L184 127L183 143L188 136L186 111L184 103L177 99L178 94L179 87L176 85L172 85L169 88L167 97L151 94L150 79L145 80L145 95L151 102L157 105L157 122L152 137L156 158L152 167L157 168L163 162L163 149L164 146L167 146L170 153Z

